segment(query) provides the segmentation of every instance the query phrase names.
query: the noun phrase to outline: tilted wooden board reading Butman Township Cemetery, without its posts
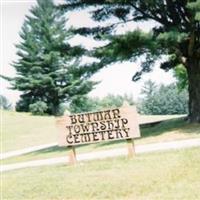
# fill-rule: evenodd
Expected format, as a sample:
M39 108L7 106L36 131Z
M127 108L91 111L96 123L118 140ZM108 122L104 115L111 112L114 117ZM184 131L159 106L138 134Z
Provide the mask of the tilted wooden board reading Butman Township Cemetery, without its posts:
M57 125L60 146L140 137L135 106L63 116Z

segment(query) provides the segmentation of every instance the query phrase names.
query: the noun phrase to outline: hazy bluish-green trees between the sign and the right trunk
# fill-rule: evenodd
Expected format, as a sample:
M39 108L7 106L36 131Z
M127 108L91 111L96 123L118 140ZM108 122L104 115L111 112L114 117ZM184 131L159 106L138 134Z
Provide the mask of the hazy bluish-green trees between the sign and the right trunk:
M144 85L144 97L139 103L139 112L147 115L186 114L188 112L188 93L179 92L175 84L156 86L148 81Z

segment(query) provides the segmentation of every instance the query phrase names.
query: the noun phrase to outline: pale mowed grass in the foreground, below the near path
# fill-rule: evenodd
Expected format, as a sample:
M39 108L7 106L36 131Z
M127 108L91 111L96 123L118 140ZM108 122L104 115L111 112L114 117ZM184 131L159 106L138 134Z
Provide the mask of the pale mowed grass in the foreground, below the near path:
M197 200L200 148L2 174L7 200Z

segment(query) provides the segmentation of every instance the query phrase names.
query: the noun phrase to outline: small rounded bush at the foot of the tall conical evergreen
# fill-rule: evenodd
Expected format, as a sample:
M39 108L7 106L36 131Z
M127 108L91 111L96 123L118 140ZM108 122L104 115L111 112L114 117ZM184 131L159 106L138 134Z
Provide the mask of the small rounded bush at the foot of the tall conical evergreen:
M29 105L29 111L33 115L44 115L47 109L48 109L47 104L42 101L37 101L36 103Z

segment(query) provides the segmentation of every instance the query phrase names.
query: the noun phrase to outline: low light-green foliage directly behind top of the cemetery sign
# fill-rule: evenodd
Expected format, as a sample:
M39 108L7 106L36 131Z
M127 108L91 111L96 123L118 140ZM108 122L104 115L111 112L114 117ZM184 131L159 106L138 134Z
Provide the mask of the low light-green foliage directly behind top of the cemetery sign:
M108 94L103 98L76 96L72 99L72 102L69 106L69 110L71 113L98 111L109 108L121 107L124 101L127 101L130 105L134 104L133 97L127 94L123 96Z

